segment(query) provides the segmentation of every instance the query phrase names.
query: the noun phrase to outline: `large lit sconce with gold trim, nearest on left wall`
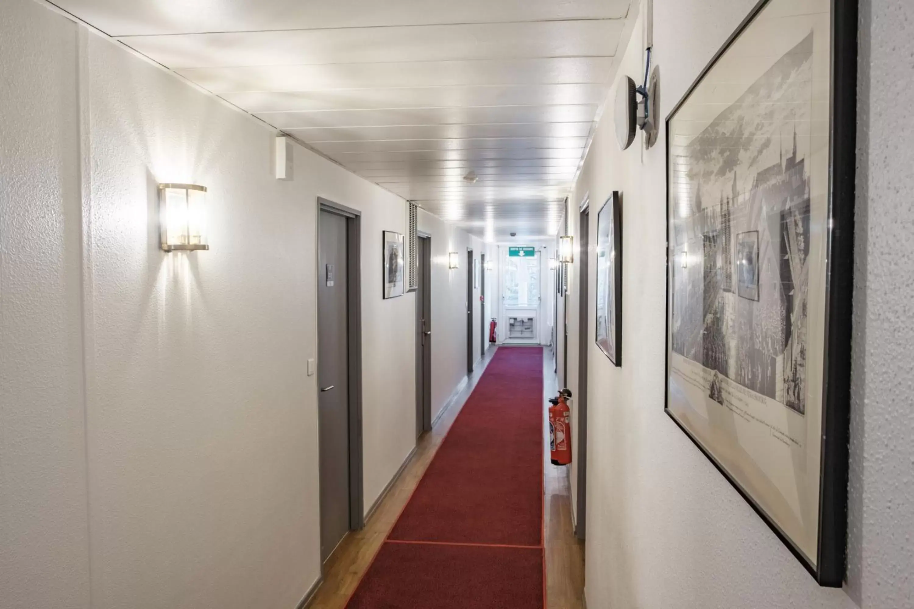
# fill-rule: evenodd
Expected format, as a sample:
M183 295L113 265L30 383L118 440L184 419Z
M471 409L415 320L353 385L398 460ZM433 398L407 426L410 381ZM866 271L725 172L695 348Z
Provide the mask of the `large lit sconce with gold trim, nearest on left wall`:
M197 184L159 184L162 249L209 249L206 234L207 189Z

